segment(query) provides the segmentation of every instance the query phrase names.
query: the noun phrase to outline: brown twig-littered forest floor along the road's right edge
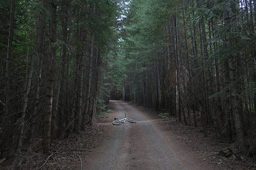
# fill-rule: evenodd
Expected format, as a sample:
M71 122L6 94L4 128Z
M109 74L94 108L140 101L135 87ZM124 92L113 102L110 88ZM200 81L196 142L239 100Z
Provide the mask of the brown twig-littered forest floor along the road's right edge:
M188 127L182 122L166 119L160 122L167 130L175 134L175 138L186 145L193 153L199 153L201 161L215 170L254 170L255 157L244 156L239 153L238 143L229 144L218 141L214 129L209 128L208 137L204 137L203 127Z

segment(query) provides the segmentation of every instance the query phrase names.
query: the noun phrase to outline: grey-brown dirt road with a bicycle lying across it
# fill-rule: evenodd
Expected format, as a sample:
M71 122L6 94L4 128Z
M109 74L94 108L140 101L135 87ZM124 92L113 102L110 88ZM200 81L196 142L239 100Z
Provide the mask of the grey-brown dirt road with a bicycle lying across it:
M105 125L104 141L84 157L84 170L205 170L169 131L157 125L159 119L151 119L122 101L111 104L115 112ZM122 119L124 113L137 123L112 125L114 118Z

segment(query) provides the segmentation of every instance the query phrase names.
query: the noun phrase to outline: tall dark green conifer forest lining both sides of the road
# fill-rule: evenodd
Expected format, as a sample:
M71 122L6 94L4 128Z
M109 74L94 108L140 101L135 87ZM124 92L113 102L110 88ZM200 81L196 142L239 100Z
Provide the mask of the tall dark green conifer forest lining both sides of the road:
M256 155L256 1L0 0L0 159L47 153L109 100Z

